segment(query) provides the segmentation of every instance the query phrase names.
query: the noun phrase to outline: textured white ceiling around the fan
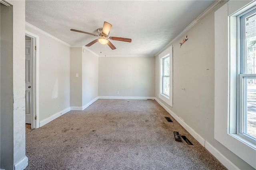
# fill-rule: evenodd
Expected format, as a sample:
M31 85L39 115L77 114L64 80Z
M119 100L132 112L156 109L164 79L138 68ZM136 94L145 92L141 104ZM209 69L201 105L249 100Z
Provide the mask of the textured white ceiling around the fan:
M90 50L106 56L155 55L213 2L26 0L26 22L70 45L86 45L97 37L70 29L97 34L106 21L112 24L109 36L131 38L132 42L112 40L115 50L97 42Z

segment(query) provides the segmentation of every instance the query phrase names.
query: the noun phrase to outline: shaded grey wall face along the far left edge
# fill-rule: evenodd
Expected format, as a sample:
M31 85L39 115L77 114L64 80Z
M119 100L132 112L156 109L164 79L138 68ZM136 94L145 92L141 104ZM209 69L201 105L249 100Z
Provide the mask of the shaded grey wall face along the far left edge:
M1 4L1 167L13 169L13 7ZM22 148L23 149L23 148Z

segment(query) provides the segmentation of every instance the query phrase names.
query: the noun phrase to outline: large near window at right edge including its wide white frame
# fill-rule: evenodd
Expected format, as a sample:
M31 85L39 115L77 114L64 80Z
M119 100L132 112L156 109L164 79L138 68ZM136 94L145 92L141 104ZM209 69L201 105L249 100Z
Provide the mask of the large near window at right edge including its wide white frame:
M214 138L252 168L256 168L256 140L251 131L255 131L256 116L255 28L248 30L246 24L255 9L256 1L228 1L214 13Z

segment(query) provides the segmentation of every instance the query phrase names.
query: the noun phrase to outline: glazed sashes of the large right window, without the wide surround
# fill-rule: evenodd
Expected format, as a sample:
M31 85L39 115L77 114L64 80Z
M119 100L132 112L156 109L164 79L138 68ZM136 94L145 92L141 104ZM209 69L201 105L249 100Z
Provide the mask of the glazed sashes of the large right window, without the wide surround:
M256 9L250 9L238 19L238 113L237 134L256 141ZM238 39L239 40L239 39Z

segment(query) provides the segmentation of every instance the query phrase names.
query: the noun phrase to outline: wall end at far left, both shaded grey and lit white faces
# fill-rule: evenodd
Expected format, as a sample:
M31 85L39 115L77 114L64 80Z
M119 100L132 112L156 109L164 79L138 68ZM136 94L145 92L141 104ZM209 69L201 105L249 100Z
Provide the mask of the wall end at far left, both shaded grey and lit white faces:
M24 169L25 1L1 5L1 168Z

